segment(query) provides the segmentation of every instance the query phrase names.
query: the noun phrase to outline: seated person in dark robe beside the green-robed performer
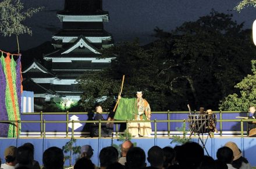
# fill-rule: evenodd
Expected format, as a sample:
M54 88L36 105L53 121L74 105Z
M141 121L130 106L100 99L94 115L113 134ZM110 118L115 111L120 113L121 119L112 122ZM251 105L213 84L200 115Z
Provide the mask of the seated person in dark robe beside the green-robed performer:
M95 108L96 115L93 120L105 120L102 116L102 108L101 106L96 106ZM106 123L101 123L101 137L111 137L113 128L107 127ZM93 123L91 126L91 135L93 137L99 136L99 123Z

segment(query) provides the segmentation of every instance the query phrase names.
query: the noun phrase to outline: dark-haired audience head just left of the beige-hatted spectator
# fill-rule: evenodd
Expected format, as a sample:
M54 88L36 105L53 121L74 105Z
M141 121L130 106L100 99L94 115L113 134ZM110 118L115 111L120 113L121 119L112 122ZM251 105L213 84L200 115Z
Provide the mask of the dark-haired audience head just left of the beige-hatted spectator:
M234 156L232 149L227 146L223 146L217 150L217 159L226 164L231 164Z

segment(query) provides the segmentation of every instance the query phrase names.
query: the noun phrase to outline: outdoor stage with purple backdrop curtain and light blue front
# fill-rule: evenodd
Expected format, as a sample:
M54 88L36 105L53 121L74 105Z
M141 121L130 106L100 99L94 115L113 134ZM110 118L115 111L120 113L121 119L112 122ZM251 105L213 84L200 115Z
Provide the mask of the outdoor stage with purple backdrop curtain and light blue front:
M235 142L241 151L243 152L244 157L248 159L252 166L256 166L255 161L255 152L256 152L256 138L247 137L247 123L240 122L240 120L236 119L236 116L247 116L247 113L244 112L233 112L233 113L216 113L218 122L216 123L216 127L218 128L218 134L214 135L214 138L208 138L205 148L207 149L210 156L216 159L216 152L221 146L225 145L228 141ZM106 118L106 114L104 117ZM136 142L137 146L144 149L146 155L148 149L150 149L154 145L158 145L161 148L165 146L174 147L176 144L171 144L172 135L179 134L182 136L182 132L176 130L176 127L183 126L183 119L188 118L187 112L155 112L152 113L151 126L152 126L152 138L136 138L131 139L132 142ZM120 145L122 141L119 141L118 136L119 133L116 133L116 128L118 128L118 132L120 129L120 124L114 125L113 138L91 138L88 137L88 131L86 131L86 125L88 123L88 115L82 115L79 113L70 113L70 114L58 114L58 115L40 115L39 113L22 113L22 132L19 138L0 138L0 157L3 158L3 152L6 147L10 145L21 146L25 142L31 142L35 146L35 160L38 160L42 165L42 153L45 149L51 146L58 146L62 148L66 144L66 142L70 141L70 138L73 136L76 138L76 143L73 146L83 146L83 145L91 145L94 149L93 155L93 163L99 165L98 155L102 148L105 146L111 146L112 144ZM228 122L222 120L232 121L236 119L236 122ZM42 120L44 120L44 124L42 125ZM73 126L70 120L75 120L79 124L79 126ZM157 122L157 120L165 120L165 122ZM166 122L166 120L169 120ZM176 121L175 121L176 120ZM179 122L177 122L179 120ZM28 121L33 123L29 123ZM52 122L54 123L52 123ZM55 121L62 121L61 123L55 123ZM51 122L51 123L47 123ZM74 125L73 124L73 125ZM243 125L241 125L243 124ZM42 127L44 126L44 127ZM189 124L186 122L186 129L189 129ZM156 128L157 127L157 128ZM243 127L243 128L241 128ZM44 130L45 129L45 130ZM155 134L155 129L157 129L157 134ZM44 133L42 133L44 131ZM68 131L68 133L67 133ZM241 133L243 131L243 133ZM45 134L45 137L42 137ZM242 135L243 134L243 135ZM68 135L68 137L66 137ZM206 139L207 134L205 134ZM242 137L243 136L243 137ZM187 137L189 137L189 132L187 133ZM205 141L204 139L204 141ZM192 140L198 142L198 137L193 135ZM201 142L200 142L201 144ZM205 155L207 153L205 152ZM72 157L72 164L74 164L74 160L76 157ZM69 160L65 161L65 166L69 166Z

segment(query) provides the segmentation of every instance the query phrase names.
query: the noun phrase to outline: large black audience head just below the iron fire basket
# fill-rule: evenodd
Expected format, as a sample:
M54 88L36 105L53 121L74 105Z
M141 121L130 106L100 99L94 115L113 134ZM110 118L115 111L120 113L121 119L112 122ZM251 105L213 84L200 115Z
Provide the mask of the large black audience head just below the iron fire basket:
M186 142L177 149L177 162L183 168L197 168L204 157L204 149L196 142Z

